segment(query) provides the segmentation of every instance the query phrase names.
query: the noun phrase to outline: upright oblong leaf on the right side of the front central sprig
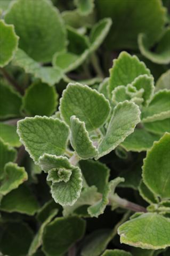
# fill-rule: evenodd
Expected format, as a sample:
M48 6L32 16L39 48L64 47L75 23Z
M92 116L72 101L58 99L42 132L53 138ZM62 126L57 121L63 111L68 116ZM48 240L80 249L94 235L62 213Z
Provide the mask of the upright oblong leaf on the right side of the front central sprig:
M133 133L135 126L140 122L140 109L133 102L120 102L111 116L107 133L98 148L98 157L107 155L114 150L128 135Z

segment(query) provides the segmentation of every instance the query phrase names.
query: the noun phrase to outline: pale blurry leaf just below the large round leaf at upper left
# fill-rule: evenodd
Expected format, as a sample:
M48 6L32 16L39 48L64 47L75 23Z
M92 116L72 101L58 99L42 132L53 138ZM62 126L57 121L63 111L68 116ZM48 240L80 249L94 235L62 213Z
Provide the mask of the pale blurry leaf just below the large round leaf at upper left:
M23 68L26 73L34 75L36 78L41 79L43 83L49 85L54 85L55 83L58 83L63 76L61 69L57 67L42 67L38 62L31 59L21 49L18 49L18 51L16 52L12 64L14 66Z

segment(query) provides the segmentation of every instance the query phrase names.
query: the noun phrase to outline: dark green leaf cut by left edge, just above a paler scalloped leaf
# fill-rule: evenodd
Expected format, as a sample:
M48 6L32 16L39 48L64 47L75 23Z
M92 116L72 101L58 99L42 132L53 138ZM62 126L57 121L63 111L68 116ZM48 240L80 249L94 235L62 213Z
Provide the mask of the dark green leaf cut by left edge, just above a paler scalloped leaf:
M4 166L8 162L13 162L15 161L15 158L17 156L17 151L10 147L7 143L5 143L1 138L0 138L0 152L1 152L1 157L0 157L0 179L4 177Z

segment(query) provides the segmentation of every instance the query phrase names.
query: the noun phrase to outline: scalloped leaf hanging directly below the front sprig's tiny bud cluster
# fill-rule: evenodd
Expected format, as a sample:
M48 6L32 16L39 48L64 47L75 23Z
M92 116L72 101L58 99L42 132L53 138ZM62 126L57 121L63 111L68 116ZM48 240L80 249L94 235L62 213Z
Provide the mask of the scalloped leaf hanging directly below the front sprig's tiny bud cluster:
M55 203L64 205L73 205L83 187L82 173L79 167L75 166L72 169L72 173L69 181L54 182L51 185L51 194Z

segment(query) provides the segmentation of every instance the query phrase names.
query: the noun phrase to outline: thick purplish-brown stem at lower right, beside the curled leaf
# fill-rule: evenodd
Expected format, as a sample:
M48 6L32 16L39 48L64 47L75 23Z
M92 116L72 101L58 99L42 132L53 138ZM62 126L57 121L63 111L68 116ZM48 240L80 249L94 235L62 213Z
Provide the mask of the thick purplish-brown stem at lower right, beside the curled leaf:
M120 198L117 194L111 196L110 198L110 204L116 203L119 207L131 210L133 212L147 212L147 209L145 209L143 206L139 204L132 203L124 198Z

